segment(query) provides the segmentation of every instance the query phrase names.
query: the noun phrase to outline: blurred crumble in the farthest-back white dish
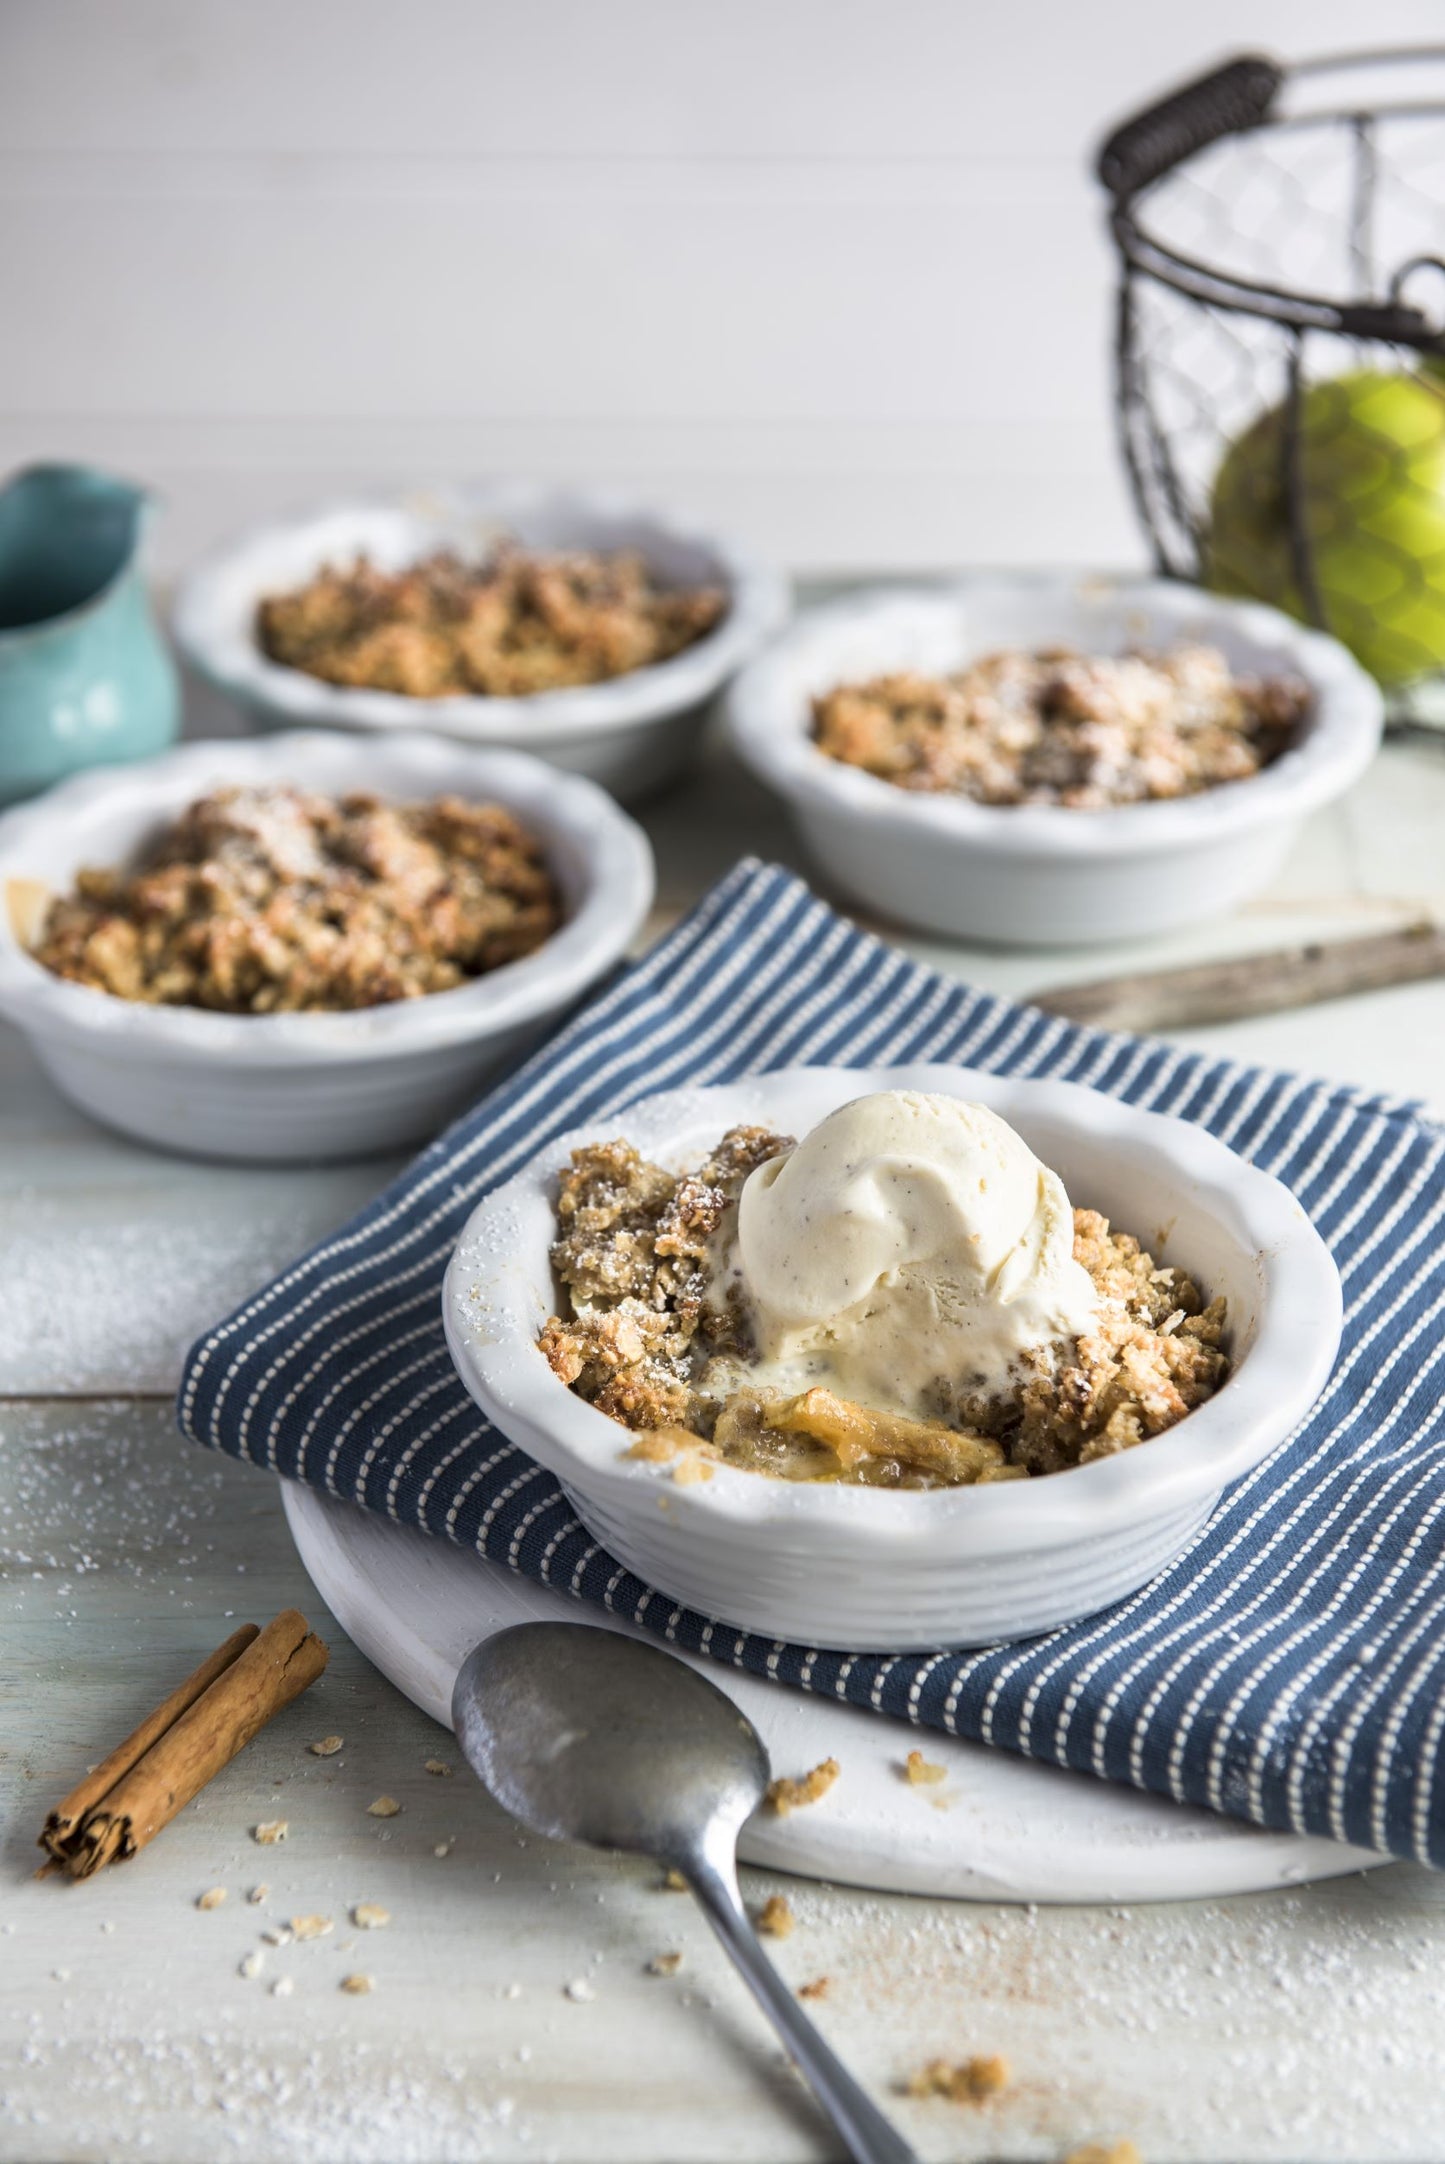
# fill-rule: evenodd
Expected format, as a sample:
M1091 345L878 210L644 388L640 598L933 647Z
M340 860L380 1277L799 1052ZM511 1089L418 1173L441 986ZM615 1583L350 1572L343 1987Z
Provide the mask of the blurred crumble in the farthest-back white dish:
M273 662L409 699L526 697L664 662L725 615L718 586L664 586L636 550L480 563L439 550L402 571L361 556L322 569L255 617Z

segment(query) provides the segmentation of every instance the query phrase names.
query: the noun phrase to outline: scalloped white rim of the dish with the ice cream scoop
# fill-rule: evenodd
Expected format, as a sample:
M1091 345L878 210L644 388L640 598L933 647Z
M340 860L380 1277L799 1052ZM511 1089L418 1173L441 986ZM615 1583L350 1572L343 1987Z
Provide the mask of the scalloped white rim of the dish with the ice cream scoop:
M820 1080L826 1078L826 1086ZM800 1088L798 1088L800 1086ZM1043 1480L963 1489L878 1491L841 1482L787 1482L718 1463L714 1478L660 1482L658 1467L623 1456L617 1422L578 1398L534 1344L539 1292L545 1314L552 1279L545 1240L558 1166L586 1140L625 1134L642 1149L666 1151L666 1136L720 1134L738 1119L774 1121L798 1132L831 1104L872 1088L922 1088L976 1097L1004 1119L1010 1106L1066 1121L1092 1140L1131 1156L1153 1153L1175 1179L1227 1197L1255 1244L1261 1303L1255 1342L1222 1389L1183 1422L1134 1450L1077 1465ZM790 1099L807 1121L792 1119ZM826 1101L831 1097L831 1101ZM1084 1197L1088 1201L1088 1197ZM1188 1231L1179 1262L1188 1268ZM474 1251L502 1257L498 1292L478 1314ZM530 1296L530 1301L528 1301ZM511 1182L493 1190L463 1227L443 1285L452 1361L469 1396L511 1435L508 1420L539 1428L552 1443L547 1465L582 1495L608 1489L617 1508L653 1513L658 1500L677 1528L764 1528L811 1523L848 1534L887 1558L922 1541L947 1543L958 1560L1002 1552L1073 1547L1134 1523L1203 1502L1252 1469L1309 1413L1339 1350L1343 1301L1335 1262L1296 1197L1246 1164L1224 1143L1188 1121L1144 1112L1077 1082L1036 1082L965 1067L878 1069L796 1067L710 1088L666 1091L547 1143ZM523 1448L530 1448L523 1441ZM629 1491L629 1493L627 1493Z

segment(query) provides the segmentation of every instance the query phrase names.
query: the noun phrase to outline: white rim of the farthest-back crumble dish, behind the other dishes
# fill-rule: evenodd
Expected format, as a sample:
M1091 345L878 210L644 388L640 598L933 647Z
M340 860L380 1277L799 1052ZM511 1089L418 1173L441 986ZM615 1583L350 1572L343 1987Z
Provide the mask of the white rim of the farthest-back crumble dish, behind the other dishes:
M729 608L716 630L671 660L610 677L606 684L573 684L528 697L415 699L407 692L327 684L301 669L273 662L262 654L253 630L257 599L275 589L275 573L260 571L264 558L277 547L296 545L305 532L316 530L316 547L309 558L311 569L316 569L337 552L357 547L355 539L344 539L348 526L355 528L379 517L413 519L420 535L430 528L437 539L446 535L448 524L459 519L478 519L504 530L508 522L556 517L558 524L578 526L578 545L599 545L584 541L584 530L595 526L649 528L664 543L710 556L716 576L727 584ZM333 539L324 539L329 532ZM642 541L632 545L647 556ZM251 563L257 565L257 573L244 586L242 617L229 586ZM186 660L212 684L231 697L251 699L286 714L299 725L433 727L478 744L511 744L521 734L528 747L547 751L608 729L664 721L701 705L777 630L785 615L785 580L731 535L686 526L608 489L498 480L389 498L337 498L249 526L186 573L175 591L171 625Z

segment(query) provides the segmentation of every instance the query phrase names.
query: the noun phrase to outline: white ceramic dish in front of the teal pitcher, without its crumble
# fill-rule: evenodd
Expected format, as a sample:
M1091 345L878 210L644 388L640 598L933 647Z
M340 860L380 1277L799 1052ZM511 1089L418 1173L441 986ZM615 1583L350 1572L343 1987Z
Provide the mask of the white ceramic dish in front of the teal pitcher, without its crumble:
M132 861L195 796L236 781L506 805L543 842L567 922L534 954L456 991L348 1015L138 1006L67 985L30 956L37 889L65 892L80 866ZM145 1143L270 1162L361 1156L435 1134L489 1069L625 954L651 896L640 827L595 783L517 751L417 731L186 744L78 775L0 818L0 1013L74 1104Z

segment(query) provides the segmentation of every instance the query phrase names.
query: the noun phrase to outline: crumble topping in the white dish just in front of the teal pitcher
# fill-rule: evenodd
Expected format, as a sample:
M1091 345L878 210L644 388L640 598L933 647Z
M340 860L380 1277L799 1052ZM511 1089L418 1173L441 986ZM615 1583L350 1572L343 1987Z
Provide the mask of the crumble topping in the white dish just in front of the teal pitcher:
M560 922L541 844L500 805L225 788L138 868L78 872L32 954L149 1006L335 1013L448 991Z

